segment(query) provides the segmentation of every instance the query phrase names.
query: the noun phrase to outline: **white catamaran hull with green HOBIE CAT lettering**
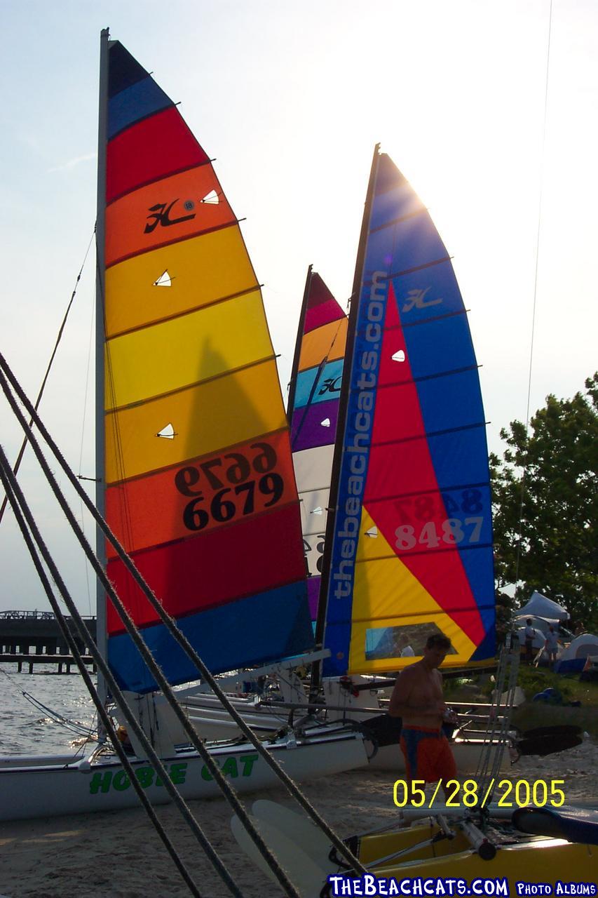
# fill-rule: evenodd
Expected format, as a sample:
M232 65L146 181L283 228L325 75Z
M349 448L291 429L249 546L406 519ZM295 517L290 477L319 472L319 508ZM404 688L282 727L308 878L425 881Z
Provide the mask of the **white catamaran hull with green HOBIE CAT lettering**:
M269 745L269 751L295 780L327 776L367 763L365 744L358 734L321 735L304 742L294 739ZM251 744L215 746L216 762L238 792L273 788L280 780ZM147 761L132 760L145 794L152 804L171 798ZM179 752L164 759L169 775L185 798L211 798L220 788L198 757ZM128 774L119 761L82 761L69 766L54 765L0 769L0 821L115 811L138 805Z

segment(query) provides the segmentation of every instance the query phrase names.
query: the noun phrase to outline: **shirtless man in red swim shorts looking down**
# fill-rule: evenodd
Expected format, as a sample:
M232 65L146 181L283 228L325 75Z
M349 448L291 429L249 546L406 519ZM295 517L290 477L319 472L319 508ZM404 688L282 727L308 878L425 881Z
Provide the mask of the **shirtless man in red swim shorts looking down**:
M448 739L442 731L443 721L451 717L443 699L443 678L438 671L451 647L443 633L428 638L421 661L406 667L391 695L389 714L402 718L400 749L405 756L407 781L423 779L446 783L455 779L457 768ZM454 716L452 722L456 722Z

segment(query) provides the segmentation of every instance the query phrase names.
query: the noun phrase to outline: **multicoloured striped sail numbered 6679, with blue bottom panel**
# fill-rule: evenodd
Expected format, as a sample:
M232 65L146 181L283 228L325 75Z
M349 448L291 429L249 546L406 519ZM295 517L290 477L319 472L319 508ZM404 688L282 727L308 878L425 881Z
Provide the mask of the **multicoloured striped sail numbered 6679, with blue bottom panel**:
M286 415L233 210L177 106L110 41L105 207L106 516L214 672L312 647ZM108 548L172 683L197 678ZM153 682L109 605L120 684Z

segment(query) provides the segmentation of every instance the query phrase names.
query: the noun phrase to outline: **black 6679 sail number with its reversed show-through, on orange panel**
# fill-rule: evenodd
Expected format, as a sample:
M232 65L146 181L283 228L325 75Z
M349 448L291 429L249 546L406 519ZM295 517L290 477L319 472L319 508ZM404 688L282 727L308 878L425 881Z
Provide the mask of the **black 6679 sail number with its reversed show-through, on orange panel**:
M285 481L272 470L277 453L268 443L253 443L250 448L255 450L251 458L226 453L177 471L176 488L191 497L182 515L188 530L203 530L210 522L226 524L238 514L251 515L256 504L259 509L277 504L285 491ZM204 489L213 495L206 496Z

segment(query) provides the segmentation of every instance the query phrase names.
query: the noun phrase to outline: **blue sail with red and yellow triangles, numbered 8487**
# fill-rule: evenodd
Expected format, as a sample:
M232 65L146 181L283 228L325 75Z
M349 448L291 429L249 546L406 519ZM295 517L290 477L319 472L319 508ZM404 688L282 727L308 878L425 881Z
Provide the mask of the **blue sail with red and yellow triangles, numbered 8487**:
M400 669L439 630L453 643L447 664L495 650L485 420L453 266L386 154L374 154L365 216L327 585L327 675Z

